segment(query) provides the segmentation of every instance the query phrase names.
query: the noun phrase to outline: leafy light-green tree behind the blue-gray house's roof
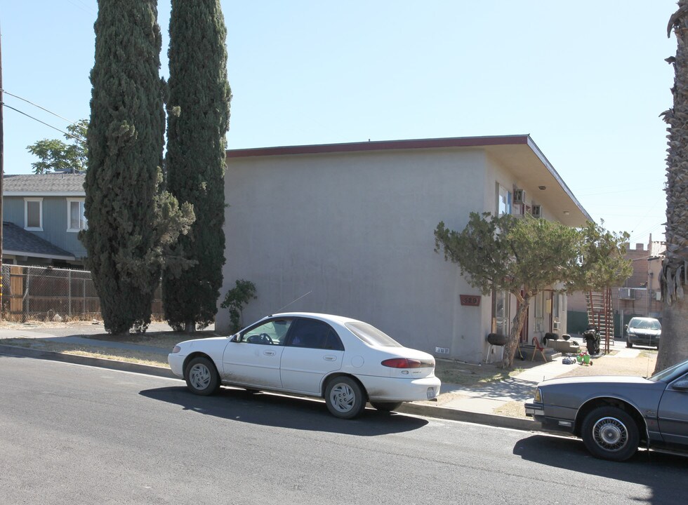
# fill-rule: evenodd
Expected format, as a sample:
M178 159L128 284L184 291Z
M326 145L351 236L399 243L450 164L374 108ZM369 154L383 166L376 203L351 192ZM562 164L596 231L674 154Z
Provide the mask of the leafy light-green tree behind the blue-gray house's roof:
M34 173L84 172L88 162L87 130L88 120L81 119L78 123L67 126L68 133L65 133L67 142L59 139L43 139L27 146L28 152L39 158L39 161L31 163Z

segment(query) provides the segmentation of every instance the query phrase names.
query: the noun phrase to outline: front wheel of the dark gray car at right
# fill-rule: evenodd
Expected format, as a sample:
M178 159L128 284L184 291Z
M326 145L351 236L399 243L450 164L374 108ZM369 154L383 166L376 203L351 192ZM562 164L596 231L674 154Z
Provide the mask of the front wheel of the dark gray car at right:
M586 416L581 432L593 456L624 461L638 450L638 428L626 412L616 407L598 407Z

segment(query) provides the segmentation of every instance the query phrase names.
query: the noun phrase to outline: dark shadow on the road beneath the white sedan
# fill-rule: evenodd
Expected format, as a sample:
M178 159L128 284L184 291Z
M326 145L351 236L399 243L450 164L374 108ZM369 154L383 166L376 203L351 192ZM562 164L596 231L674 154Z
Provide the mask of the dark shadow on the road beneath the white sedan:
M141 391L142 396L179 405L183 410L221 417L228 421L277 426L307 431L378 436L422 428L428 421L392 412L367 408L352 420L333 417L324 402L315 399L249 393L243 389L222 388L214 396L197 396L186 387L167 387Z

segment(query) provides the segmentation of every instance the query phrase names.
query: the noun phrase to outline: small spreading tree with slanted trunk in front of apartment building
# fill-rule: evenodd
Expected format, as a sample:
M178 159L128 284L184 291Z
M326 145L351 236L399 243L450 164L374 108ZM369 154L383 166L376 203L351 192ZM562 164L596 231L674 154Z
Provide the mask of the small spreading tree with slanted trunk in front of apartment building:
M529 216L471 213L461 233L444 222L437 225L435 251L444 251L444 259L457 263L466 281L484 295L496 290L515 297L503 361L504 368L512 368L531 299L557 284L562 290L588 289L628 277L630 264L621 249L625 238L592 223L578 230Z

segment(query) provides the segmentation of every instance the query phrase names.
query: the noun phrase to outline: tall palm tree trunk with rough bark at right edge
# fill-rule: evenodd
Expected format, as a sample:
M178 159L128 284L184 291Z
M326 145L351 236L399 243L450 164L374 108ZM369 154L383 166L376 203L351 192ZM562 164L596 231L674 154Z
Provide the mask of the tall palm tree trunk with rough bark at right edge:
M668 123L666 158L666 253L662 262L662 337L656 371L688 358L688 0L679 0L667 36L676 36L673 107L663 112Z

